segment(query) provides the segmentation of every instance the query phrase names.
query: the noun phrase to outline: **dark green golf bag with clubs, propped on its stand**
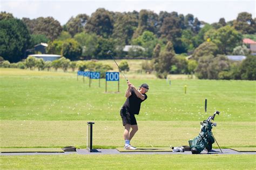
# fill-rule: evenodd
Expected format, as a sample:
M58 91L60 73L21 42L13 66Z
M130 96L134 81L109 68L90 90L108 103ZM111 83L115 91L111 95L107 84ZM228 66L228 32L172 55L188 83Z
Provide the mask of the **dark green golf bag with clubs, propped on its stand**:
M206 148L207 151L211 151L212 144L214 143L212 126L217 125L216 123L212 123L211 120L214 120L215 114L219 114L219 112L216 111L212 116L208 117L207 120L204 120L203 123L201 123L201 132L198 137L194 138L192 141L192 154L199 154L204 150L204 148Z

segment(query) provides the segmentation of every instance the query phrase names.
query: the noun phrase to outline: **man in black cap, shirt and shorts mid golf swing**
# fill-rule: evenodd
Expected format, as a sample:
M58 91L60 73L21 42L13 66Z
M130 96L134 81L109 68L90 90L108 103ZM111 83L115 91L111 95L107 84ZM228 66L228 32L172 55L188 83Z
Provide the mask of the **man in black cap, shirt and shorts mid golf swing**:
M130 144L134 134L138 131L138 125L134 114L139 114L140 104L147 99L146 92L149 91L149 85L142 84L137 90L130 81L127 81L128 87L125 92L126 101L120 110L120 115L124 126L125 149L135 150L136 147ZM130 132L130 129L132 131Z

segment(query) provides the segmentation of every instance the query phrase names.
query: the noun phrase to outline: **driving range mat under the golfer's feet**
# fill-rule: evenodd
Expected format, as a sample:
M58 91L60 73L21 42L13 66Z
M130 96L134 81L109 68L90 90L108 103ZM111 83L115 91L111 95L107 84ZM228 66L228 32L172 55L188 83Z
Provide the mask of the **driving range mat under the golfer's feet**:
M172 152L170 147L137 147L136 150L126 150L124 147L117 147L119 152Z

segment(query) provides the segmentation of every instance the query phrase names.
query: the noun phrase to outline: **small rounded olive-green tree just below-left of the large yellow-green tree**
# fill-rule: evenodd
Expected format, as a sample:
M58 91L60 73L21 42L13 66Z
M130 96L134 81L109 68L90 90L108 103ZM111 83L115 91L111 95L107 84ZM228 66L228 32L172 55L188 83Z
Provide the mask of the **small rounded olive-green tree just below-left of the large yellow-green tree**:
M204 42L203 44L200 44L196 50L194 50L193 53L193 59L195 60L199 60L200 57L203 56L210 56L212 55L213 57L215 55L217 55L218 52L218 47L216 44L212 43L212 42Z

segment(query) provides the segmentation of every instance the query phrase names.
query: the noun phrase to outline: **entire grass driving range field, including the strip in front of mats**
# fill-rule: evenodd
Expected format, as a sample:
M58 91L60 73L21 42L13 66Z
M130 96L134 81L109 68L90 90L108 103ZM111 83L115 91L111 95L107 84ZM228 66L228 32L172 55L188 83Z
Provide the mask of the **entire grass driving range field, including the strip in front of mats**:
M132 144L139 147L188 145L200 131L200 121L215 110L214 137L222 148L255 147L255 81L197 80L169 76L169 81L152 74L127 73L150 91L137 116L139 131ZM121 76L120 76L121 77ZM184 93L184 86L187 93ZM86 123L95 121L93 144L98 148L123 145L119 110L125 101L125 80L77 81L76 73L0 68L0 133L2 148L65 147L86 145ZM204 101L207 98L207 113ZM213 147L217 147L216 144ZM3 169L99 168L125 169L133 160L135 169L254 169L254 155L64 155L0 157ZM149 161L150 160L150 161ZM36 162L36 163L35 163ZM47 162L47 164L45 164ZM72 164L70 164L72 162ZM100 162L100 163L99 163ZM199 166L195 165L197 162ZM34 164L33 164L34 163ZM97 165L95 167L95 165Z

